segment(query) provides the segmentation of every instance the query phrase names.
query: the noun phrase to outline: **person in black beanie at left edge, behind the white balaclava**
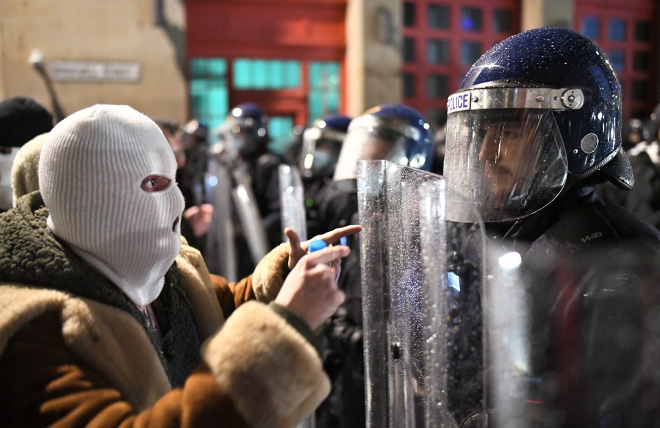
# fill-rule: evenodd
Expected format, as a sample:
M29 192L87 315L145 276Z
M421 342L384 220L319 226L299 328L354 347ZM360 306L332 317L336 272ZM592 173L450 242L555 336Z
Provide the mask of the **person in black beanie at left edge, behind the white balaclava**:
M0 213L12 208L11 171L19 149L52 127L52 115L31 98L0 102Z

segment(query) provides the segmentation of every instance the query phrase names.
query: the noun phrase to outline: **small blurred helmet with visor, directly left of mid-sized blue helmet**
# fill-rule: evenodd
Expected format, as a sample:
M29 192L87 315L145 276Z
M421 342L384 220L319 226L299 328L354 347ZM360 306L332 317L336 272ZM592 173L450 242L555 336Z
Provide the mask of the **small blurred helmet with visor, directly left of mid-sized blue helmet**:
M300 172L304 178L331 178L351 118L343 114L324 116L303 131Z

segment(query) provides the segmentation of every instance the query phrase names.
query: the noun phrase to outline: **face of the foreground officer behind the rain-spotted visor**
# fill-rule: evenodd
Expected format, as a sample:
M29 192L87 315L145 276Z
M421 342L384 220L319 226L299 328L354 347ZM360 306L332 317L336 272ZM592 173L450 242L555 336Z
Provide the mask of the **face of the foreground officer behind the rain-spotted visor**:
M525 170L531 138L531 132L525 128L520 121L483 127L479 160L484 162L486 184L492 186L496 205L516 191L521 171Z

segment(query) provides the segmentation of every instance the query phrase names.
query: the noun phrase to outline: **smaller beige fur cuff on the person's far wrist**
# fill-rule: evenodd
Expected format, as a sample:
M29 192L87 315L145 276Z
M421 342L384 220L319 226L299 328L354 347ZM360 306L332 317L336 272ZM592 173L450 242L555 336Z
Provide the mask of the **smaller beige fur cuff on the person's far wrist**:
M252 288L256 299L264 303L275 300L284 283L284 271L288 269L289 243L273 248L254 268Z

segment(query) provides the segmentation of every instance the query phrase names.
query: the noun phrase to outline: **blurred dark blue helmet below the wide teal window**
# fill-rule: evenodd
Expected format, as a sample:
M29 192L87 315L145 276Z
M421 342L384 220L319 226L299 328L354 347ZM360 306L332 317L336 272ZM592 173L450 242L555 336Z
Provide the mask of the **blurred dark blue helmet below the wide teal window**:
M244 158L259 156L268 145L270 117L255 103L236 105L217 128L218 142L228 152Z

